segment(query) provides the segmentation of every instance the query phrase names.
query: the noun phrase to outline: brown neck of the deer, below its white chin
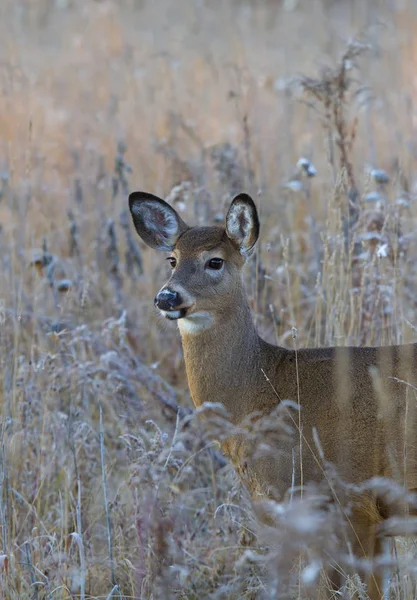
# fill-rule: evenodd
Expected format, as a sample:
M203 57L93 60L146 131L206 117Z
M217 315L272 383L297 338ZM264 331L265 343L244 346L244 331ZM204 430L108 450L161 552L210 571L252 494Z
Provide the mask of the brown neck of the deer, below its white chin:
M243 290L219 320L210 321L207 313L206 319L195 327L192 319L178 323L191 396L196 407L221 402L237 422L244 399L253 398L251 389L262 377L261 340Z

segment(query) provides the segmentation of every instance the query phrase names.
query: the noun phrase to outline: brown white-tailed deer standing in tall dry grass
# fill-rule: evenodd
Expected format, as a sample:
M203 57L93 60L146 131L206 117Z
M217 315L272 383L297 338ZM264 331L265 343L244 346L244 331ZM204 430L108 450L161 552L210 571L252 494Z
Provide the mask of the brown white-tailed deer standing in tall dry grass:
M319 440L320 456L356 490L349 548L376 559L385 535L398 535L395 518L417 515L417 345L296 350L264 341L242 277L260 234L256 205L245 193L232 200L224 226L190 227L146 192L131 193L129 207L145 244L168 252L172 274L154 303L178 324L195 407L220 403L234 425L284 401L299 408L294 421L303 443L278 436L276 456L254 457L244 435L221 442L249 492L282 499L294 485L322 482ZM378 486L364 491L364 482L385 479L404 496L387 499ZM366 577L369 597L380 600L383 575ZM334 566L329 580L332 590L343 585Z

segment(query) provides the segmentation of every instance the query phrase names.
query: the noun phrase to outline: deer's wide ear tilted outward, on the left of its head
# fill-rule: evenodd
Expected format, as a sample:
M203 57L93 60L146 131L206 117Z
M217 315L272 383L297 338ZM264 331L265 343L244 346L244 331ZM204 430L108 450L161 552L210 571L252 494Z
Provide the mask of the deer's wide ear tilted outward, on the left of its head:
M155 250L173 250L180 235L189 229L165 200L153 194L133 192L129 208L136 231Z

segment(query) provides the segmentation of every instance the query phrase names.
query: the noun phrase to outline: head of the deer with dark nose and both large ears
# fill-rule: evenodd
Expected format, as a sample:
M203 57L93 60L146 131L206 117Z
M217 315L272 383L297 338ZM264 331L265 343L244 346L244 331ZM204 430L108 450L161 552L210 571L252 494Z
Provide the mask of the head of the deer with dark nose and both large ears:
M145 192L130 194L129 206L143 241L169 252L172 275L155 298L164 317L181 319L182 333L197 333L237 310L241 270L259 236L250 196L233 199L224 227L189 227L164 200Z

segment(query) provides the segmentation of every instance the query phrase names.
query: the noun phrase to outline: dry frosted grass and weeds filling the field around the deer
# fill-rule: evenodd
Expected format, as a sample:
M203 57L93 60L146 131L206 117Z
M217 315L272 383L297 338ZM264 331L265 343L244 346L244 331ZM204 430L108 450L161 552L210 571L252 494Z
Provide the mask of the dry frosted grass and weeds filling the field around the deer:
M248 281L268 340L416 340L415 3L4 0L0 16L0 597L284 597L288 561L187 410L179 336L152 307L165 267L127 191L182 184L190 222L258 195ZM297 519L276 534L291 552L317 539ZM413 597L413 550L398 543L393 597Z

